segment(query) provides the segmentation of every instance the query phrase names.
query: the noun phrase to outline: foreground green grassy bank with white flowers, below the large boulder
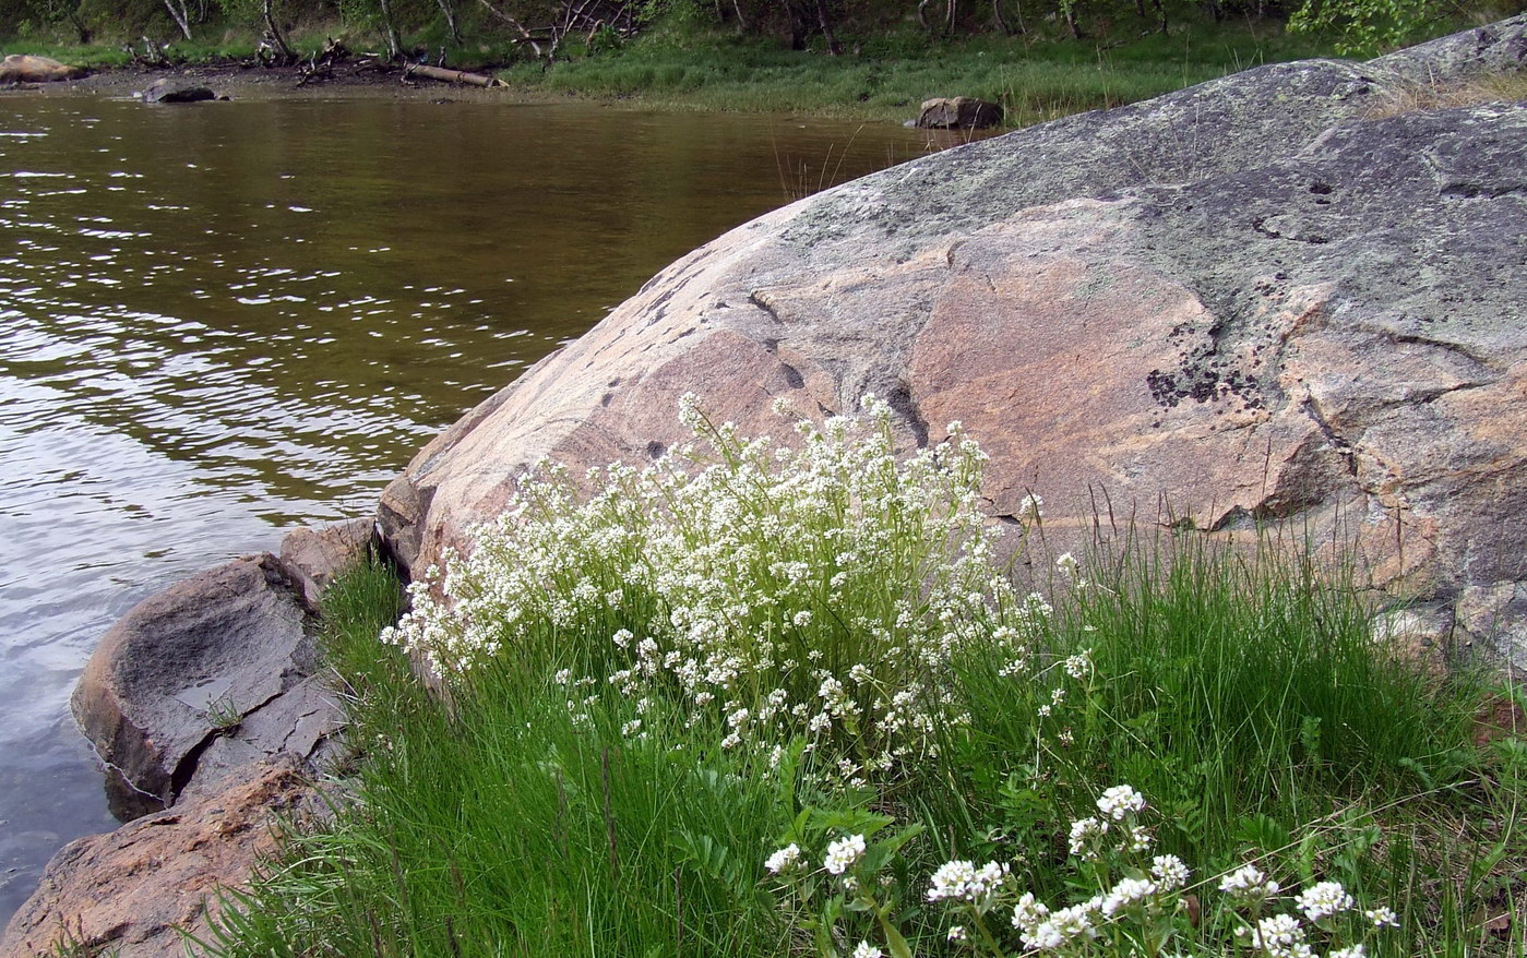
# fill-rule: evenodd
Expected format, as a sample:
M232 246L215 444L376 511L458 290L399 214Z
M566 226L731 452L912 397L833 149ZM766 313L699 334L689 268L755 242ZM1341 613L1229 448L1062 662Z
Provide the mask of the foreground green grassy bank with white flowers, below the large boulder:
M592 499L527 485L385 642L388 571L334 586L356 801L212 953L1522 953L1527 746L1475 718L1518 693L1397 654L1359 571L1048 557L1032 502L1019 587L960 436L687 415Z

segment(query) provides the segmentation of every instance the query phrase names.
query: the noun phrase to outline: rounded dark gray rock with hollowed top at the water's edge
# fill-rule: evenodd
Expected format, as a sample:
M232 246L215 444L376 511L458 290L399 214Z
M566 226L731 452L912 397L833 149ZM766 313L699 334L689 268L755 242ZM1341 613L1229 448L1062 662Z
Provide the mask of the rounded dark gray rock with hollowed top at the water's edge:
M73 709L124 796L144 799L128 816L174 804L192 778L318 744L315 723L336 715L312 680L310 616L301 581L266 554L150 596L101 639Z

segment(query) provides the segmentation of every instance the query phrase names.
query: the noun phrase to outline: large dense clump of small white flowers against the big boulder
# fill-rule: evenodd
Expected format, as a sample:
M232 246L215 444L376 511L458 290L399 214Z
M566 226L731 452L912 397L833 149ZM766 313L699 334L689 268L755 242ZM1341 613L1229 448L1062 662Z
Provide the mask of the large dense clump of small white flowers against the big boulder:
M450 680L589 636L609 654L585 661L614 665L563 670L560 685L676 700L730 749L805 735L851 783L936 754L936 732L965 720L941 680L951 654L1049 612L991 563L985 453L953 429L898 459L873 397L861 418L799 420L794 448L713 426L693 398L681 418L692 444L640 471L592 470L586 499L562 467L524 476L469 557L447 554L443 575L411 587L383 639Z

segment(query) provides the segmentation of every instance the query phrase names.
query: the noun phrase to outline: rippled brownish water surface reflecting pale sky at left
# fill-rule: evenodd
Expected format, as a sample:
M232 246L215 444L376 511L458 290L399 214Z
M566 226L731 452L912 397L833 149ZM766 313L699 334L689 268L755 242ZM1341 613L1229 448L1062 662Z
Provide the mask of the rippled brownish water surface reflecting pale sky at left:
M669 261L925 148L577 105L0 95L0 923L115 824L67 699L133 603L370 514Z

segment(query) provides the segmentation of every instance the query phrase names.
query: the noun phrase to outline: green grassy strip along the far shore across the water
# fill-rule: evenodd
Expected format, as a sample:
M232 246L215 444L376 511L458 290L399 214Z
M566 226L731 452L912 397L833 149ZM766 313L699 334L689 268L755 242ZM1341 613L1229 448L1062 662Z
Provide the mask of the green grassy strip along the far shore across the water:
M308 55L337 24L313 26L292 37ZM247 61L255 37L247 31L209 31L195 43L171 43L176 63ZM366 38L350 46L363 50ZM1170 35L1119 31L1102 40L971 37L931 41L921 34L889 34L851 46L857 53L828 56L788 50L768 38L724 32L654 29L597 53L570 46L553 64L515 63L504 44L452 46L437 37L411 44L429 61L444 50L450 66L496 73L513 95L536 99L588 98L680 110L811 113L857 121L901 122L933 96L977 96L1003 105L1006 125L1022 127L1067 113L1148 99L1251 66L1328 55L1309 35L1287 35L1277 21L1214 26L1190 23ZM40 53L92 69L130 63L121 46L61 46L12 40L6 52ZM510 64L510 66L504 66Z

